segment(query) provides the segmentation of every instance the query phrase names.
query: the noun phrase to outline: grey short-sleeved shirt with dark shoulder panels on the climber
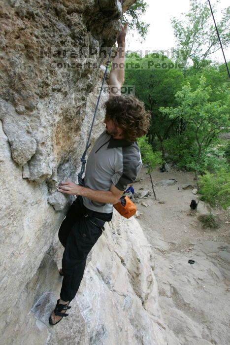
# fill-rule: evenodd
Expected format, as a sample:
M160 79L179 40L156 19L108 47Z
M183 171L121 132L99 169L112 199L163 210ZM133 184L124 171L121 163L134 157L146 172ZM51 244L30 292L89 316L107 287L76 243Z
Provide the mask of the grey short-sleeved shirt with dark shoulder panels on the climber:
M123 191L135 181L142 167L140 149L136 142L114 139L103 132L96 140L86 165L85 187L109 191L111 184ZM111 204L99 203L83 197L85 207L97 212L110 213Z

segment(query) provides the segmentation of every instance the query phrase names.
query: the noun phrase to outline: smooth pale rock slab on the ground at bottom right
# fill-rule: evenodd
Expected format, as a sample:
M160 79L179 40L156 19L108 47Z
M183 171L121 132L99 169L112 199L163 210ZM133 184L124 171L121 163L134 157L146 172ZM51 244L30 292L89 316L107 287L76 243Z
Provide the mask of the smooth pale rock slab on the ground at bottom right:
M228 345L230 245L203 241L177 253L159 233L153 238L168 344Z

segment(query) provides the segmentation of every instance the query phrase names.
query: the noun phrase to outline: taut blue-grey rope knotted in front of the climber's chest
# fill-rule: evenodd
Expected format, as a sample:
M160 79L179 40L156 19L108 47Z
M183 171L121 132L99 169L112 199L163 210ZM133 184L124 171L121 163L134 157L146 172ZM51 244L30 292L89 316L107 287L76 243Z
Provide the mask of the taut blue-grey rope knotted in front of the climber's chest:
M90 141L90 138L91 138L91 134L92 134L92 130L93 130L93 127L94 127L94 121L95 121L95 118L96 118L96 114L97 114L97 110L98 110L98 106L99 106L99 102L100 102L100 96L101 96L101 92L103 90L103 85L104 85L104 81L105 81L105 77L106 77L106 73L107 73L107 70L108 70L108 65L109 65L109 62L110 62L110 57L111 57L111 53L112 53L112 48L110 49L110 52L109 52L109 56L108 56L108 61L106 62L106 68L105 68L105 72L104 72L104 76L103 76L103 80L102 80L102 84L101 84L101 88L100 88L100 92L99 92L99 97L98 97L98 102L96 104L96 108L95 108L95 111L94 111L94 116L93 116L93 120L92 120L92 124L91 124L91 128L90 128L90 133L89 133L89 136L88 136L88 139L87 139L87 143L86 143L86 148L85 148L85 151L83 152L83 155L81 157L81 171L80 173L77 175L78 176L78 184L80 186L83 186L84 185L84 179L82 178L82 175L83 173L85 172L85 165L86 165L86 152L88 150L88 148L90 147L91 143L89 143Z

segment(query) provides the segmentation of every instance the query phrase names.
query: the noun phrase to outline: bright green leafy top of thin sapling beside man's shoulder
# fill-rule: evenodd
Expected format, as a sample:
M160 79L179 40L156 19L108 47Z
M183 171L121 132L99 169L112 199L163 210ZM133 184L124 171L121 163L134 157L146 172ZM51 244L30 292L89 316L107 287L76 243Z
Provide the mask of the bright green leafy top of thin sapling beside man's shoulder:
M148 173L150 174L153 169L162 163L161 152L153 152L152 146L148 143L148 138L142 137L138 139L138 145L140 147L142 162L147 164Z

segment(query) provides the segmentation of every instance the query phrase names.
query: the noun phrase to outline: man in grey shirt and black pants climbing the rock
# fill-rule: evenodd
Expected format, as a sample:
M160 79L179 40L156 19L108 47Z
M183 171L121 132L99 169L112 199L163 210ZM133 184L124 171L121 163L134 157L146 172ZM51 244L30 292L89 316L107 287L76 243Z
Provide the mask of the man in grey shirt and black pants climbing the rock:
M62 182L58 191L77 195L66 214L59 239L65 247L60 299L49 323L57 324L69 308L80 286L86 258L102 234L103 225L112 218L113 204L119 202L127 185L136 179L141 168L136 139L147 133L149 114L144 104L133 96L114 94L124 82L125 37L128 23L119 35L117 56L109 75L110 98L104 104L106 130L92 148L86 166L84 186ZM129 130L128 130L129 129Z

